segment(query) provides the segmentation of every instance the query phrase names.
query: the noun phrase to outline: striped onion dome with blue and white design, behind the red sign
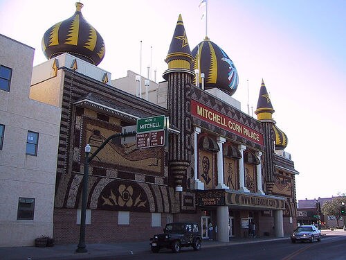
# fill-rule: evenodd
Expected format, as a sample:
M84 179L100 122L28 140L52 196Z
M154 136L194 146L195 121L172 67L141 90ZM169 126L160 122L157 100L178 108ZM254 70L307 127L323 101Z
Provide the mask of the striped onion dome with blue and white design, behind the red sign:
M238 87L239 77L235 64L228 55L208 37L192 50L192 69L204 73L205 89L218 88L232 96ZM201 78L199 80L201 82ZM196 82L194 82L196 84Z

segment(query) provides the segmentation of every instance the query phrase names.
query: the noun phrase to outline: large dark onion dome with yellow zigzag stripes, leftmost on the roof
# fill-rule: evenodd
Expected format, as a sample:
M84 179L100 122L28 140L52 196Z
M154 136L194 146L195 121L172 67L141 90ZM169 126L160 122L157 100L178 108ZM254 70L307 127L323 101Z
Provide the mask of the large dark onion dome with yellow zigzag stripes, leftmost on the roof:
M49 28L42 38L42 51L48 60L62 53L98 65L104 58L104 41L83 17L83 4L75 3L75 14Z

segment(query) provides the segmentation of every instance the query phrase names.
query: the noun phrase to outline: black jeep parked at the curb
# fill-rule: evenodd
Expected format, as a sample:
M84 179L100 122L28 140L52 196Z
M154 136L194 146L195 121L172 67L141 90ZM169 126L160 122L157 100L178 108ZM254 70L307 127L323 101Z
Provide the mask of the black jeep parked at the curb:
M163 229L163 234L156 234L150 239L152 252L157 253L161 248L170 248L179 252L181 247L192 246L194 250L201 249L201 234L197 223L170 223Z

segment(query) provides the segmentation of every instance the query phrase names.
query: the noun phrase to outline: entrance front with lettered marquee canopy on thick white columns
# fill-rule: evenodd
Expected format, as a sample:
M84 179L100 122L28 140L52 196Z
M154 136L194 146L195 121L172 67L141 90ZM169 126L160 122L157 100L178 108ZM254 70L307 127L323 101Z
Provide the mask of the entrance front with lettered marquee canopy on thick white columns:
M256 225L258 236L282 235L282 211L285 199L231 190L198 191L197 205L201 210L202 234L208 236L208 224L212 223L217 239L231 236L248 236L248 223ZM274 218L273 227L266 223Z

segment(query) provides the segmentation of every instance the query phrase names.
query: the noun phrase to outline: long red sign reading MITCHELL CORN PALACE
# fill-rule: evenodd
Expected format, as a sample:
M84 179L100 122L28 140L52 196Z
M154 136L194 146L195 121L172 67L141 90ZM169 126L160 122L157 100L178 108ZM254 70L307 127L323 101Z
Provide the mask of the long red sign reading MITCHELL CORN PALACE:
M194 100L191 100L191 114L192 116L196 116L199 119L216 125L219 128L233 132L236 135L260 144L261 146L264 145L263 135L260 132Z

